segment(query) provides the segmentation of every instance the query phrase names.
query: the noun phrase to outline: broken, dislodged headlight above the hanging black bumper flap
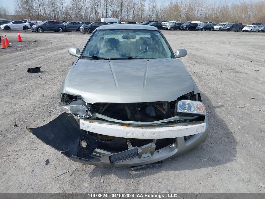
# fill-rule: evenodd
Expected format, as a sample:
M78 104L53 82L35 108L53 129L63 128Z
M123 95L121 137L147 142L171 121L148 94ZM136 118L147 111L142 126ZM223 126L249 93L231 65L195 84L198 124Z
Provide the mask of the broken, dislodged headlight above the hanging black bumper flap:
M62 112L72 113L76 118L86 118L92 116L88 107L82 104L77 105L60 105Z

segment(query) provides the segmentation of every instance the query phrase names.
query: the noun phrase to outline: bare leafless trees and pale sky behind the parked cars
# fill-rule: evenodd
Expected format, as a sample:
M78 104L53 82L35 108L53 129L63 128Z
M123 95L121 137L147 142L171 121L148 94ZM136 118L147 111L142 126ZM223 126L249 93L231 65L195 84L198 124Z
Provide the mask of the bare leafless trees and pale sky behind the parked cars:
M118 18L120 21L176 20L265 23L265 1L178 0L158 5L156 0L14 0L13 14L18 19L98 21ZM11 14L0 7L0 18Z

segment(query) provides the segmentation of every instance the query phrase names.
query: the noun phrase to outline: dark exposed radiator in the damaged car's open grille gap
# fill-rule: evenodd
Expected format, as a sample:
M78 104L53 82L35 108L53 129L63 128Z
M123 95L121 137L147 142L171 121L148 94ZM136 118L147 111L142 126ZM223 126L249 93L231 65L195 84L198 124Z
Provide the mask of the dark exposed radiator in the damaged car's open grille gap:
M157 105L163 109L163 104L157 104ZM149 106L147 104L132 103L132 104L126 104L126 106L134 107L134 110L136 110L136 108L139 107L140 110L134 111L132 119L129 119L128 112L125 109L124 103L110 103L109 106L101 114L113 119L119 119L123 121L153 122L153 121L166 119L166 114L162 113L158 108L154 106L153 106L155 109L154 116L149 116L146 113L146 108Z

